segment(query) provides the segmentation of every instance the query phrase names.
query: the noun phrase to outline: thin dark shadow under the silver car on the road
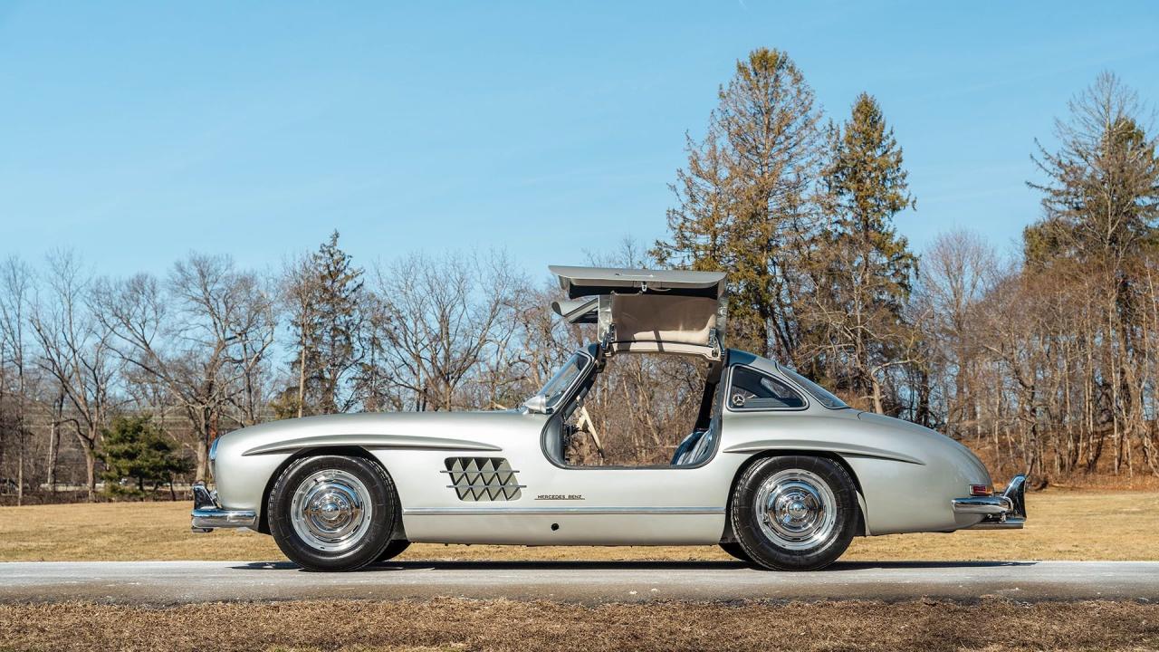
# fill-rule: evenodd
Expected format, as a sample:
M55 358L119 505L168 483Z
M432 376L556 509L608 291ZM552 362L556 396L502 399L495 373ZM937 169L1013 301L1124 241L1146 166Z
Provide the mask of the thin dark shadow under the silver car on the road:
M987 568L999 566L1034 566L1036 562L837 562L819 572L839 573L865 570L892 568ZM238 571L302 571L292 562L253 562L231 566ZM382 571L712 571L751 568L757 572L764 568L749 566L742 562L582 562L582 560L529 560L529 562L447 562L447 560L400 560L371 564L356 573Z

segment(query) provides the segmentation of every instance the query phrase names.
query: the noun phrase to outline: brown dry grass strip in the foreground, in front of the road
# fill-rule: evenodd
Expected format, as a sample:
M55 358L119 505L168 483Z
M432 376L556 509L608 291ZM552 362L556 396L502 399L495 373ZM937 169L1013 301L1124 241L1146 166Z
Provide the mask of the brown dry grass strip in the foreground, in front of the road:
M1149 650L1159 606L914 601L0 606L8 650Z

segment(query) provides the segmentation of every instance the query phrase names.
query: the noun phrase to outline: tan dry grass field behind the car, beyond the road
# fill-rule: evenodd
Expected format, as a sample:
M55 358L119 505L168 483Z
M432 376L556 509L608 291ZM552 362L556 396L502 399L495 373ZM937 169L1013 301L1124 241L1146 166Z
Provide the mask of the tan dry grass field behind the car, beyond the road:
M850 560L1159 560L1159 493L1049 490L1027 495L1025 530L854 539ZM0 560L280 559L264 535L189 531L188 502L0 507ZM728 559L716 546L410 546L402 559Z

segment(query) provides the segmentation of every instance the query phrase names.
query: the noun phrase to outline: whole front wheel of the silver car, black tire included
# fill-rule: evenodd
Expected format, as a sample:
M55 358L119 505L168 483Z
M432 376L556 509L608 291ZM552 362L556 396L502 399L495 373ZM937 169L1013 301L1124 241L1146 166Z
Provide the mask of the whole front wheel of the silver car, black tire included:
M278 476L267 509L270 534L291 562L311 571L355 571L378 560L391 543L398 498L377 463L320 455L298 459ZM331 524L350 531L326 529Z

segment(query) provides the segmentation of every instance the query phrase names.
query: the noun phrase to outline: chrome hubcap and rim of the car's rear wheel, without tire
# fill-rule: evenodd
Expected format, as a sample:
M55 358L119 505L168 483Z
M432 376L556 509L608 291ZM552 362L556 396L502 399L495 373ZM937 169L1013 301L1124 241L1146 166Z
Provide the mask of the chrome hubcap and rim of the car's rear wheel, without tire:
M825 480L802 469L778 471L760 485L753 504L760 531L789 550L817 548L837 523L837 499Z

